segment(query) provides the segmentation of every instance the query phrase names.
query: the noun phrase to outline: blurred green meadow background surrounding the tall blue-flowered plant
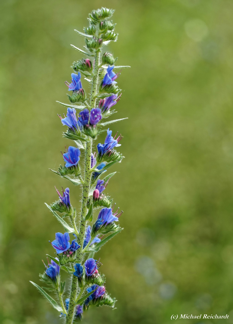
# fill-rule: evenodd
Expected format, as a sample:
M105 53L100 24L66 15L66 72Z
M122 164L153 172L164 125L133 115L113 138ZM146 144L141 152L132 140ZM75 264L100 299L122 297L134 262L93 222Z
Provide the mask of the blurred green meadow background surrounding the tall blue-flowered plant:
M71 144L55 100L68 102L64 81L82 58L70 47L84 44L73 29L101 6L116 9L109 49L131 65L116 106L129 119L112 127L126 158L107 187L125 229L97 254L117 309L92 307L83 323L212 313L229 318L204 323L233 323L230 0L1 1L0 323L61 323L29 280L39 284L48 240L61 231L44 205L57 199L54 185L69 186L80 206L80 189L49 171Z

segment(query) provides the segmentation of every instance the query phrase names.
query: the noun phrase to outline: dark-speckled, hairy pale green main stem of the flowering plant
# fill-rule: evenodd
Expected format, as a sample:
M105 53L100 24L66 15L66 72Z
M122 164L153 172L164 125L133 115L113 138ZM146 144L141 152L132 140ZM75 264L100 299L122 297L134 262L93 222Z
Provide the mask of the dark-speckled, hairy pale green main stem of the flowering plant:
M99 74L99 61L100 61L100 51L95 53L95 65L92 78L92 90L91 90L91 99L90 99L90 110L95 107L96 104L96 93L98 87L98 74ZM82 185L82 207L81 207L81 218L80 218L80 228L79 235L77 236L78 244L81 246L77 250L77 260L81 263L83 257L83 242L85 237L86 230L86 221L85 217L87 214L87 201L89 198L90 192L90 182L91 182L91 154L92 154L92 138L89 138L89 141L86 143L85 151L85 171L84 171L84 183ZM72 276L71 282L71 291L70 291L70 301L69 308L66 316L66 324L72 324L74 318L74 310L76 305L76 295L78 289L78 280L74 275ZM81 293L81 291L80 291ZM80 294L79 294L80 295Z

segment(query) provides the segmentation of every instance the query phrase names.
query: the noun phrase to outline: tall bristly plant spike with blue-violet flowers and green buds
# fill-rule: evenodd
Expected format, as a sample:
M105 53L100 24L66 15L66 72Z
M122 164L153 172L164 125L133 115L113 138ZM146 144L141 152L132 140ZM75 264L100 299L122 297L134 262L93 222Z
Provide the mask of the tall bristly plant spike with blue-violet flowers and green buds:
M84 33L75 30L84 37L86 45L84 49L71 46L88 58L72 65L74 73L71 81L66 82L70 103L58 101L67 107L64 118L59 115L66 127L63 136L73 144L62 154L63 164L52 171L75 186L81 186L82 201L77 213L70 201L70 190L66 188L61 192L56 189L58 201L46 204L63 230L49 241L55 255L47 254L48 264L44 263L45 270L40 274L49 294L44 287L31 283L60 312L66 324L80 320L90 306L115 305L115 298L106 292L105 276L99 272L100 260L95 259L95 253L122 230L118 225L122 211L114 208L113 199L105 194L106 186L116 173L106 175L108 169L124 157L117 151L122 136L113 136L109 128L105 129L105 126L125 119L109 119L116 112L113 106L121 96L116 81L120 73L115 70L126 67L114 66L116 59L112 53L104 52L110 41L117 41L116 24L109 20L113 13L114 10L107 8L93 10ZM89 94L82 87L82 75L91 84ZM93 142L103 132L106 138L104 142L97 141L95 151ZM69 285L61 280L61 270L70 275ZM51 292L55 293L55 299L50 296Z

